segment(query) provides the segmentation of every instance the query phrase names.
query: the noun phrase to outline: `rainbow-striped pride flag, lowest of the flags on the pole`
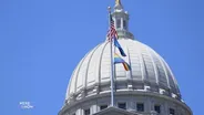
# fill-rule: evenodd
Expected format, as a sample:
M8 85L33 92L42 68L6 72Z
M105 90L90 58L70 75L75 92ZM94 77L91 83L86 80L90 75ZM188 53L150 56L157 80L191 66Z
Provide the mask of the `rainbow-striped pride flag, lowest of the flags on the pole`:
M123 60L121 59L116 53L114 54L114 64L122 63L125 71L130 71L131 66Z

